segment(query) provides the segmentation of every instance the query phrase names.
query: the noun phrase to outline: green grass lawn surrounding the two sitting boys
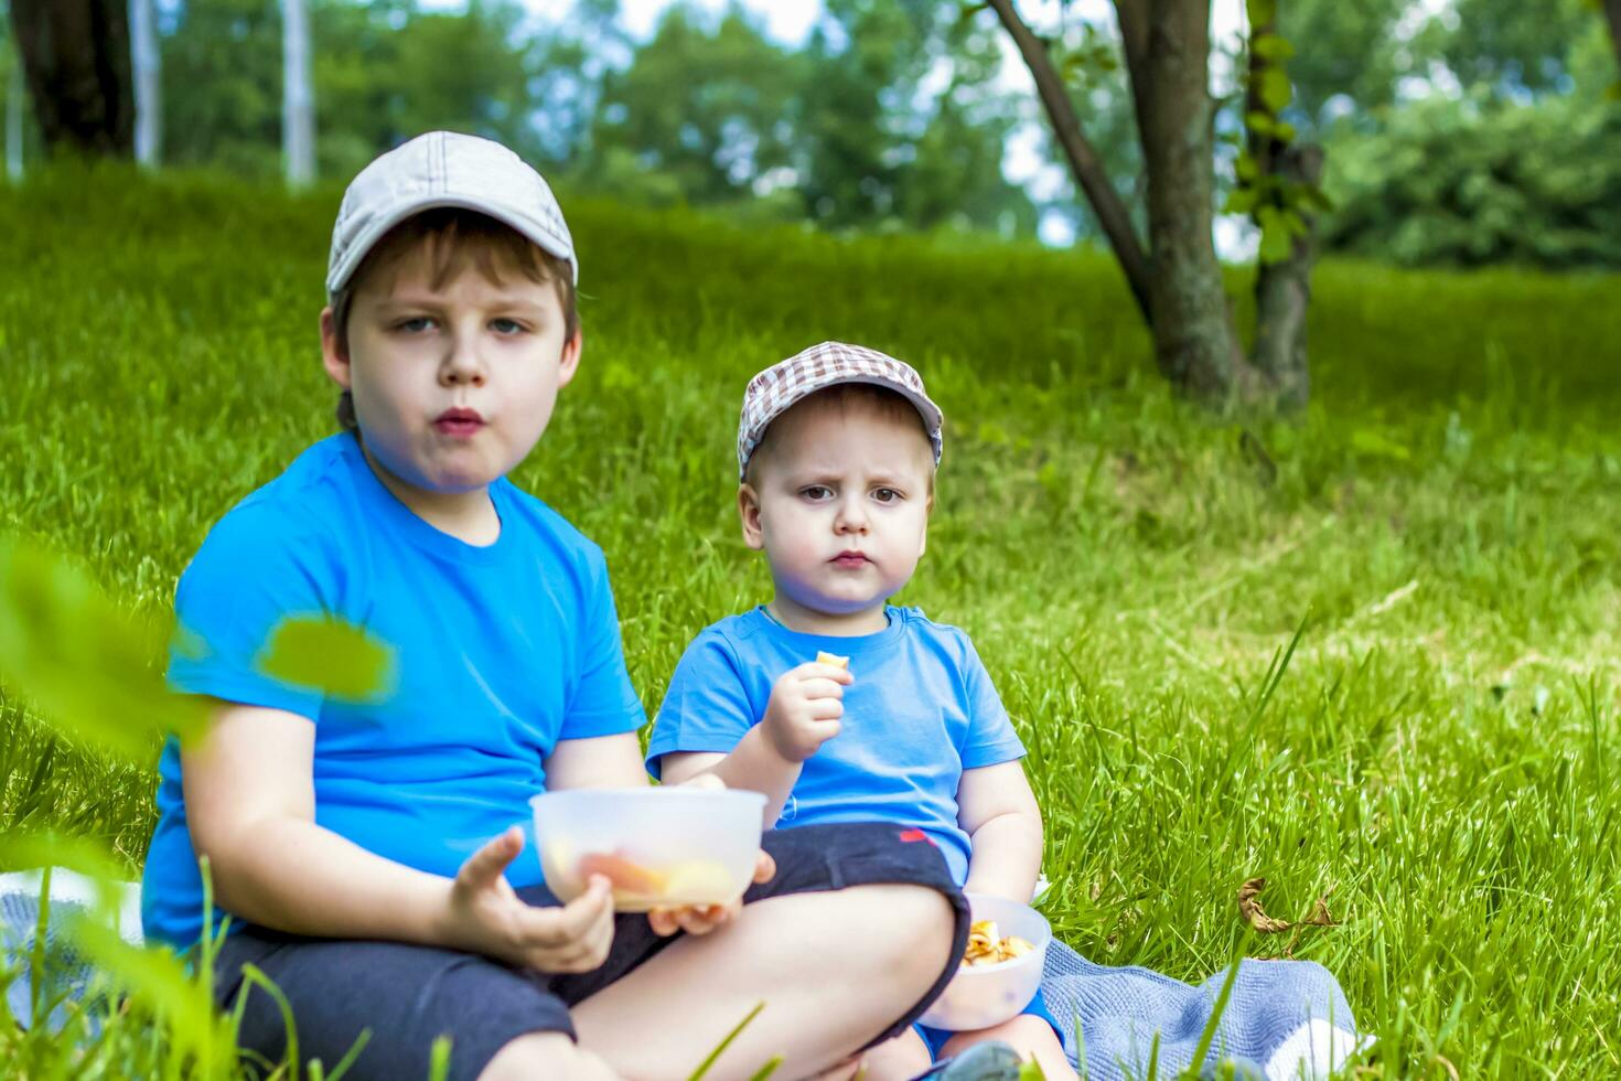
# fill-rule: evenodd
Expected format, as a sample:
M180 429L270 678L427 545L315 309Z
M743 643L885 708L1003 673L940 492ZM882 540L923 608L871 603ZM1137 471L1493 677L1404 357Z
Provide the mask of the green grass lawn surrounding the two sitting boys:
M0 190L0 530L160 621L209 523L332 429L336 198ZM974 635L1029 746L1067 942L1182 979L1277 956L1234 903L1264 875L1272 914L1342 921L1294 955L1378 1076L1621 1073L1621 280L1323 266L1310 410L1237 423L1165 392L1104 256L566 206L585 366L515 480L606 549L650 711L767 588L744 381L885 348L948 418L903 600ZM0 828L133 875L152 786L0 700Z

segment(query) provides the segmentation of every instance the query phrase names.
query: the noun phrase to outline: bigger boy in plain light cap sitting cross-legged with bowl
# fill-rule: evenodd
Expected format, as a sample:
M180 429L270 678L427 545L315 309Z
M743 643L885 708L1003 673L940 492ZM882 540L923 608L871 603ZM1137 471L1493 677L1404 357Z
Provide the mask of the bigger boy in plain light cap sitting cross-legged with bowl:
M214 919L235 917L217 995L248 995L240 1039L272 1060L287 1037L250 963L290 1000L300 1057L331 1066L370 1031L361 1078L425 1076L441 1034L456 1078L684 1076L759 1002L721 1075L783 1055L801 1076L950 976L961 898L887 827L767 838L776 874L762 857L731 911L616 917L601 880L558 906L519 859L530 796L647 783L601 551L506 480L579 368L577 272L511 151L438 131L368 165L321 313L347 431L220 519L180 580L204 648L177 648L170 681L219 710L203 746L164 752L146 929L198 942L207 856ZM308 614L394 648L381 700L263 671Z

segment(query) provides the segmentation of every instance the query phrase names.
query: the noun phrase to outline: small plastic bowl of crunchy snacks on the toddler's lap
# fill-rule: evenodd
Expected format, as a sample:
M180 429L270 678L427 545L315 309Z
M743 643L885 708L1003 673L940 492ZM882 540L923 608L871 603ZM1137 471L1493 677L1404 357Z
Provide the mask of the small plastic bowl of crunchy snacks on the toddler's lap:
M922 1015L922 1023L929 1028L971 1032L1002 1024L1018 1016L1041 987L1041 966L1052 943L1047 917L1028 904L986 893L969 893L968 908L974 921L995 921L999 937L1018 935L1033 950L1012 961L958 969Z

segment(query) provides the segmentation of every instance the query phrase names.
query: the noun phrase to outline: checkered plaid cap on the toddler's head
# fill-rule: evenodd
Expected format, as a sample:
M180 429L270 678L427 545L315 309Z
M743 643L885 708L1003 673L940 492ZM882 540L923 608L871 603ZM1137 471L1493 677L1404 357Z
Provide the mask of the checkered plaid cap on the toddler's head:
M934 444L934 464L940 464L940 407L929 400L922 376L893 357L866 345L822 342L788 360L778 361L749 379L742 392L742 417L738 421L738 480L749 472L749 457L765 438L765 429L788 408L809 394L838 382L870 382L888 387L917 407L922 425Z

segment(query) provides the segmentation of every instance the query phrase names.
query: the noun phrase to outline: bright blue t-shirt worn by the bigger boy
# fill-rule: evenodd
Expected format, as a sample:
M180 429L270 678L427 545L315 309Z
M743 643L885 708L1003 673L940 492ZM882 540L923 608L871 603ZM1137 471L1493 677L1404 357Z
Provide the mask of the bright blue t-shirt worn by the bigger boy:
M316 823L438 875L528 822L559 739L645 723L601 549L504 478L490 498L501 535L467 545L396 499L353 436L332 436L220 519L175 590L170 686L310 718ZM266 676L263 647L289 616L387 643L389 689L353 703ZM185 948L203 882L172 739L159 773L143 921ZM533 846L507 878L541 880Z

